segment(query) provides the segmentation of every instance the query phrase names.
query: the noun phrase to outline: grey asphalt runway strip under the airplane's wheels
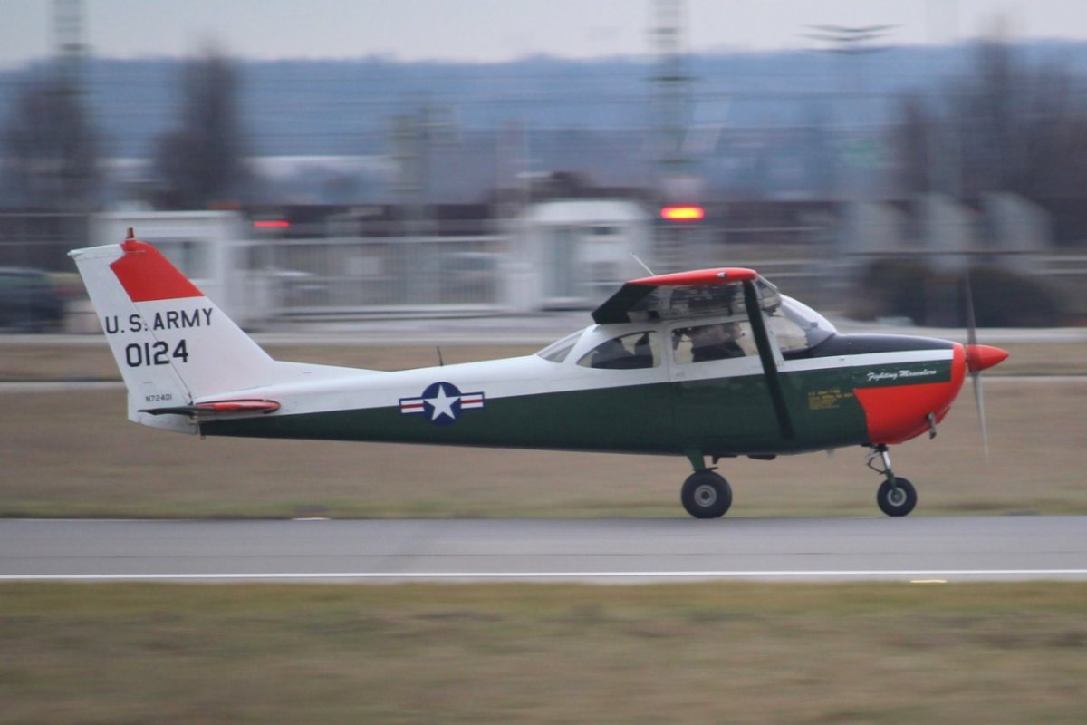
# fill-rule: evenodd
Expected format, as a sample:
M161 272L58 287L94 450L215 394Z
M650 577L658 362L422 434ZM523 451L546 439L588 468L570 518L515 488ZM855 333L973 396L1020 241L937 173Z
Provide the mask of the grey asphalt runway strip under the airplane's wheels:
M1087 516L0 521L0 582L722 579L1087 579Z

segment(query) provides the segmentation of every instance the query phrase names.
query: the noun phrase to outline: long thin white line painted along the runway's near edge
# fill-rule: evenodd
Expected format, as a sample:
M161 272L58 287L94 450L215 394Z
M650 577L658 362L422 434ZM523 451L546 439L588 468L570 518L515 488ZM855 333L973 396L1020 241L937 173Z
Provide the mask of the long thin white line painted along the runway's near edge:
M280 580L280 579L736 579L953 576L1087 576L1087 568L992 568L948 571L852 570L811 572L327 572L268 574L5 574L0 582Z

